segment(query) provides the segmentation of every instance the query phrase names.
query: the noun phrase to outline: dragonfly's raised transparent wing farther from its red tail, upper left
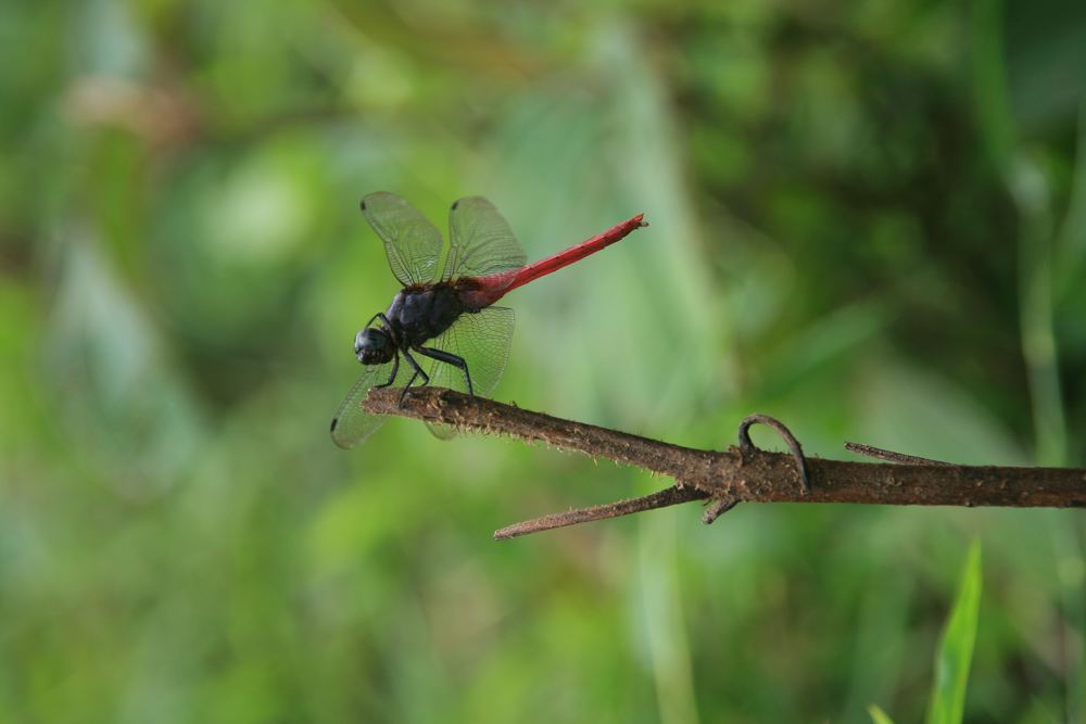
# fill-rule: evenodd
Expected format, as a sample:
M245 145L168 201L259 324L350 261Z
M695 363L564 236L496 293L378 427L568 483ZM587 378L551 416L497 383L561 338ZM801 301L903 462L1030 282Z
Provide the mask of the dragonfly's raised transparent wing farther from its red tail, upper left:
M378 191L362 200L362 213L384 242L389 266L401 284L434 281L441 232L417 208L394 193Z

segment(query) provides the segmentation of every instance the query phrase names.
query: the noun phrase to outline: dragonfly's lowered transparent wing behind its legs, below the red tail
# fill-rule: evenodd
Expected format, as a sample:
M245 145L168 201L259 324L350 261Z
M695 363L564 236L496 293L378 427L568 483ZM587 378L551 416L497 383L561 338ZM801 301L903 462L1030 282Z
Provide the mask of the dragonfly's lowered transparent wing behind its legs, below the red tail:
M514 321L513 309L507 307L485 307L476 314L465 313L427 346L463 357L468 364L475 393L489 397L502 379L509 358ZM468 391L467 379L458 367L432 360L429 373L431 385ZM452 427L441 423L427 422L427 427L442 440L452 437L455 432Z

